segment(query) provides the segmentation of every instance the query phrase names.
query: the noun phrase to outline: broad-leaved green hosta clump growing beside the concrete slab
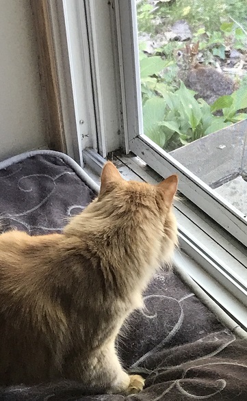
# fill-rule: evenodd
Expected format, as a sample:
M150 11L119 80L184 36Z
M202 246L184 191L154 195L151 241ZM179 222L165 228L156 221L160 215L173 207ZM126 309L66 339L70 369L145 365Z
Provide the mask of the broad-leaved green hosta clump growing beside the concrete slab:
M224 116L214 116L211 107L194 98L183 82L178 90L166 92L161 99L153 96L143 107L144 133L166 150L188 144L231 125Z

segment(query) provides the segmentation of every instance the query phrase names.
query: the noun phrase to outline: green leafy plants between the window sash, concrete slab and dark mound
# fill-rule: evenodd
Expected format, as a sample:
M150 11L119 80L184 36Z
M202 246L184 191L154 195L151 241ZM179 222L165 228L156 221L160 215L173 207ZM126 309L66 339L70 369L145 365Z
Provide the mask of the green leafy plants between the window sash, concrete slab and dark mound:
M209 133L247 118L247 86L229 96L221 96L213 105L195 99L195 92L180 83L179 89L164 83L161 71L168 66L161 57L141 55L144 133L156 144L171 151ZM222 112L222 116L214 113Z

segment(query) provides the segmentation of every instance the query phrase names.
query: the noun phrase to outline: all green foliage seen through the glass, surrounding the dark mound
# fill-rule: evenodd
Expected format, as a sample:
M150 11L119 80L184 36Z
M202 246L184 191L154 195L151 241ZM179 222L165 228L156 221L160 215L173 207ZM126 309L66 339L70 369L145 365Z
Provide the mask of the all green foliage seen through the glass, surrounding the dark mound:
M234 48L240 51L246 47L247 34L242 27L247 15L245 1L190 0L186 7L182 0L170 6L165 2L159 4L155 9L155 5L138 1L139 31L155 38L160 28L159 20L165 25L185 18L193 28L192 41L200 40L205 61L211 61L215 56L224 60L229 43L234 43ZM231 14L230 20L228 17L222 22L224 14ZM177 79L174 49L179 47L181 42L168 42L147 55L146 43L140 42L144 133L167 151L247 118L247 81L243 79L238 90L229 96L221 96L211 106L203 99L196 100L196 93Z

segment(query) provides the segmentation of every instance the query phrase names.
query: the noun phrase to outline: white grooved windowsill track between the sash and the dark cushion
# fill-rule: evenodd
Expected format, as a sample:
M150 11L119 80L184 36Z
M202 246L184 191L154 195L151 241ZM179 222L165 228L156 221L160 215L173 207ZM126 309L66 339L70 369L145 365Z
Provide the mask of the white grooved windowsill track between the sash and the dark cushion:
M83 153L83 159L84 170L100 185L105 160L91 150ZM127 180L161 180L159 174L133 155L116 153L113 162ZM174 269L219 320L239 336L247 337L246 248L187 200L174 207L181 247L174 255ZM229 266L234 277L229 274ZM235 285L240 287L237 295Z

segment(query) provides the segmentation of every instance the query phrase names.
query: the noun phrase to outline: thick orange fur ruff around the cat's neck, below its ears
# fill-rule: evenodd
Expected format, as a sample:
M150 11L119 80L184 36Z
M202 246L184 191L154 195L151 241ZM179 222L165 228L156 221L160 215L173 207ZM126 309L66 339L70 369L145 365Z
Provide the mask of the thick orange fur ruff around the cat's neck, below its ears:
M177 225L170 211L162 221L148 202L114 203L110 196L94 200L70 221L64 234L83 239L102 263L125 271L125 277L129 270L141 289L161 264L170 262L177 245Z

